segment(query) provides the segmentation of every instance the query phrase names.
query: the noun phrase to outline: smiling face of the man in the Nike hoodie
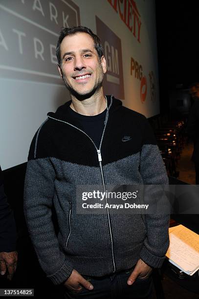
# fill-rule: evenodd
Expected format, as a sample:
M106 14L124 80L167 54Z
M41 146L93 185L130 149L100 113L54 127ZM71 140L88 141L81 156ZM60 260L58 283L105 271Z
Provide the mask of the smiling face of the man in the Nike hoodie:
M61 43L60 53L62 63L59 72L73 95L85 98L100 89L107 71L106 61L104 56L99 61L89 34L80 32L66 36Z

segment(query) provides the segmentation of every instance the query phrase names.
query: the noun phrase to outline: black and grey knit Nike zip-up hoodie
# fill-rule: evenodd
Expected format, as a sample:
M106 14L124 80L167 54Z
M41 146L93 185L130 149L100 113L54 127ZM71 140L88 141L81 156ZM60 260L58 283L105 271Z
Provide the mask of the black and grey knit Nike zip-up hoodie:
M78 185L167 184L166 170L145 116L107 96L97 149L68 113L71 101L49 112L30 146L24 186L28 230L47 277L60 284L77 270L104 276L142 258L160 267L168 249L168 215L78 214ZM126 142L124 136L128 136ZM58 233L52 222L58 221Z

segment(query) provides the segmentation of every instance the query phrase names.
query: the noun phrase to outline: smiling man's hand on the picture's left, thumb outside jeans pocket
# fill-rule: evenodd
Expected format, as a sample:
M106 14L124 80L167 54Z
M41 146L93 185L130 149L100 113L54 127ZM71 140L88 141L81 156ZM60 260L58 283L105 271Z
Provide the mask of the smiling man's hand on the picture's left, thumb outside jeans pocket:
M88 290L93 289L93 285L83 278L76 270L72 270L70 277L65 281L64 286L73 292L80 292L82 286Z

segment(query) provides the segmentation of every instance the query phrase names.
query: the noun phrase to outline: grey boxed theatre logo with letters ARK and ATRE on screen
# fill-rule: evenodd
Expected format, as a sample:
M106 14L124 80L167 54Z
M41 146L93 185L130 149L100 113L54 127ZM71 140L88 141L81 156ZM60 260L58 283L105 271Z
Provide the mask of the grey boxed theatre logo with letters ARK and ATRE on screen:
M59 31L78 25L79 7L71 0L0 0L0 77L63 85Z

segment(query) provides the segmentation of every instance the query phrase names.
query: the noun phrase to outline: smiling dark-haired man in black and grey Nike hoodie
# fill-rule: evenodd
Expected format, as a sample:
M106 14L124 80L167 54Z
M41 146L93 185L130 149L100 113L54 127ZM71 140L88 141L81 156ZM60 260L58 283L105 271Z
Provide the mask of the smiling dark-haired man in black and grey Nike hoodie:
M58 68L71 101L33 138L24 211L47 277L66 298L151 298L151 271L167 251L167 215L78 214L78 185L167 184L146 118L103 93L106 60L87 27L63 28ZM76 202L77 200L77 202ZM52 207L58 219L55 234ZM122 294L122 295L121 295Z

